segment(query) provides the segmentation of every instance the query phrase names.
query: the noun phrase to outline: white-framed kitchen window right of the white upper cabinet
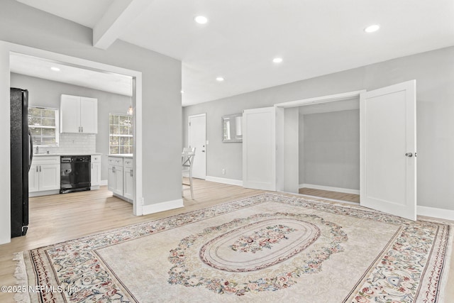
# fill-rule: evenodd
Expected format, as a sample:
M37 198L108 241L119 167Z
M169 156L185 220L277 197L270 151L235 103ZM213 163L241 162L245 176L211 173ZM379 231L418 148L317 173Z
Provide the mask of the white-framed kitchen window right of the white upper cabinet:
M109 114L109 153L133 153L133 116Z

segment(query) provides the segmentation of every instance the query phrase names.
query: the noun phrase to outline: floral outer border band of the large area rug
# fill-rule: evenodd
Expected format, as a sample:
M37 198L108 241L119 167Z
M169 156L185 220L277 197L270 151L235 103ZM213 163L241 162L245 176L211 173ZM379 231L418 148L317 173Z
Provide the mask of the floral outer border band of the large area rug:
M62 243L43 246L41 248L24 252L23 258L28 260L28 262L33 265L33 272L29 272L29 278L31 278L30 274L32 273L32 277L34 276L36 279L33 282L29 282L28 285L43 285L45 287L49 287L50 289L52 289L52 287L57 287L56 285L58 285L62 288L62 290L64 290L66 296L62 297L60 292L45 292L40 293L39 296L31 296L32 302L52 302L52 300L55 300L55 302L66 302L68 298L70 298L70 301L72 302L80 302L84 299L109 299L117 300L118 302L129 302L131 299L134 300L132 294L128 294L128 290L121 285L118 285L115 279L109 276L109 272L104 270L103 265L97 258L94 250L112 246L116 243L131 241L143 236L149 236L153 233L191 224L194 221L201 221L207 218L220 216L221 214L226 214L244 207L269 201L291 204L319 211L328 211L333 214L381 221L389 224L399 224L404 226L405 231L402 233L404 236L411 235L411 233L415 231L415 228L417 230L418 228L424 226L431 226L433 233L436 233L437 235L435 237L436 243L433 244L433 249L431 249L430 253L425 252L425 255L426 257L427 255L429 255L429 257L434 256L434 258L427 258L426 262L428 263L424 263L419 269L423 272L420 272L418 275L423 277L424 280L410 279L407 281L408 283L406 285L408 287L406 288L406 291L409 293L403 294L402 298L404 300L402 302L414 302L414 299L424 299L428 302L436 302L440 299L441 290L443 288L441 282L442 280L445 280L446 277L444 277L444 275L447 274L448 269L444 267L448 265L449 262L449 258L446 257L449 256L450 250L452 249L452 225L425 220L419 220L415 223L414 221L402 219L397 216L362 209L360 206L345 206L324 202L323 199L288 197L280 194L265 193L238 199L233 202L218 204L206 209L189 211L184 214L177 214L162 219L134 224L132 226L116 228L114 230L97 233L92 236L85 236L83 238L64 241ZM436 228L433 228L434 226L436 226ZM412 239L412 241L414 241L414 239ZM382 294L380 294L380 290L383 289L383 285L377 285L377 281L374 280L374 277L377 275L383 275L385 270L392 270L392 268L396 268L396 266L402 262L402 260L396 258L396 254L394 253L394 250L404 248L401 245L401 242L402 237L394 241L392 248L384 253L382 259L375 266L375 268L372 266L373 270L368 272L367 277L358 282L355 290L352 290L350 295L346 297L343 302L368 302L370 299L380 299L380 296L383 297ZM428 247L428 241L424 245ZM420 248L421 250L425 249L423 247ZM91 284L87 287L87 289L82 291L79 290L79 292L70 292L70 290L74 289L74 285L84 285L84 281L81 281L81 279L83 279L83 272L81 271L81 268L78 268L77 263L71 263L71 259L68 262L66 258L68 252L71 251L74 253L74 256L77 255L77 259L79 261L83 261L86 265L89 264L92 270L98 270L98 274L101 274L101 276L105 278L96 284L96 291L94 291L93 285ZM415 258L421 258L421 260L423 260L426 257L424 257L424 253L422 253L417 255ZM57 261L50 265L50 258ZM20 260L21 258L18 259ZM49 275L47 271L49 266L52 268L52 274L54 274L55 277ZM427 270L429 266L431 270ZM418 269L411 268L411 270Z

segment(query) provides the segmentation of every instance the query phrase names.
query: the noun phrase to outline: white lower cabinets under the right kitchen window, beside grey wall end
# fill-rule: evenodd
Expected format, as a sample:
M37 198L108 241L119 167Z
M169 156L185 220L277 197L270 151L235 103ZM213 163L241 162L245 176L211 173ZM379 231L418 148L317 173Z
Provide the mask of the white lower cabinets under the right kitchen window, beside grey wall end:
M109 156L109 180L107 188L116 197L133 202L133 159Z

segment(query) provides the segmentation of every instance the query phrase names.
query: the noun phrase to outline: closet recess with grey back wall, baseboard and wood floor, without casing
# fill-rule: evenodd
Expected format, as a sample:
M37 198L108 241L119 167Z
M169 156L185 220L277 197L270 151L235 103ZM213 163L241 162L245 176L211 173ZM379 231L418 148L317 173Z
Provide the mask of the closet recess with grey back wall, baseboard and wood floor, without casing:
M298 193L360 203L360 99L298 107Z

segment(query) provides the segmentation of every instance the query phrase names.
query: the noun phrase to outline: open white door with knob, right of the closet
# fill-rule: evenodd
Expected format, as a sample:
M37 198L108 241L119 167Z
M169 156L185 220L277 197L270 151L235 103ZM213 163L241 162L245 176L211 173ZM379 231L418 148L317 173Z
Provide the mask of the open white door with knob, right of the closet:
M416 80L361 94L361 202L416 220Z

